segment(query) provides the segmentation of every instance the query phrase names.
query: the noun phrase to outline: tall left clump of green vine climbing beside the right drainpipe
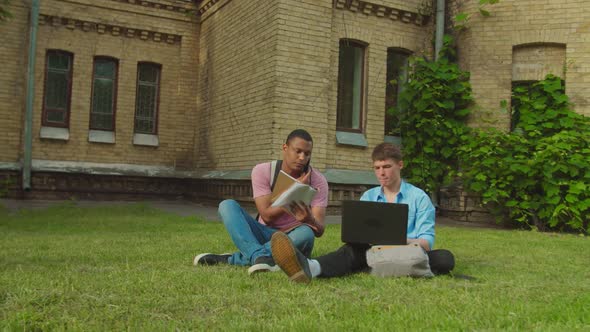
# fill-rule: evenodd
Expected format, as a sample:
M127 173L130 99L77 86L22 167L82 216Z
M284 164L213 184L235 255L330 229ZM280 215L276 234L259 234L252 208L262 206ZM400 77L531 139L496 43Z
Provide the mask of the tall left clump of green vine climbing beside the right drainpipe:
M452 38L445 36L437 61L410 59L408 83L392 110L403 139L404 177L437 193L457 169L457 149L467 139L465 120L472 102L469 73L461 71L452 56Z

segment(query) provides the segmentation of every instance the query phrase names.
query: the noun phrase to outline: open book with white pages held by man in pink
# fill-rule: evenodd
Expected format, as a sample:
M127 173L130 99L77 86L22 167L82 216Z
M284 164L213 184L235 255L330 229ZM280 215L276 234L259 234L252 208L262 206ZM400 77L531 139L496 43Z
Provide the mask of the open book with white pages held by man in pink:
M304 204L309 205L317 192L311 186L297 181L281 170L270 196L271 206L288 208L291 203L297 201L302 201Z

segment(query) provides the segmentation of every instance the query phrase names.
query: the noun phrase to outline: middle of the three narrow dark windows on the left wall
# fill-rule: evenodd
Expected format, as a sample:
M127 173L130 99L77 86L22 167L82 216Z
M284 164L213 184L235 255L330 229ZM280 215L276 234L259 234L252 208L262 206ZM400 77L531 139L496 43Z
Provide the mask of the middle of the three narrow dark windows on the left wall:
M106 57L94 59L90 129L115 130L117 70L116 59Z

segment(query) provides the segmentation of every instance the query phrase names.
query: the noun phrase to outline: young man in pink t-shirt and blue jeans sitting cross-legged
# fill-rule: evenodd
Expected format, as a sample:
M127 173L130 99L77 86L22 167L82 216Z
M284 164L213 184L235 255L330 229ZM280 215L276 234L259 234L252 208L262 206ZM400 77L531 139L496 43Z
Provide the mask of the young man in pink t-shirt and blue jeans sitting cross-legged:
M277 231L285 234L300 253L309 257L315 237L324 232L328 206L328 182L322 173L309 166L312 149L311 135L303 129L296 129L282 146L282 161L256 165L251 180L258 218L250 216L235 200L219 204L219 216L239 251L200 254L195 257L194 264L251 265L248 274L278 271L270 252L270 239ZM273 166L277 168L276 172L273 172ZM271 196L279 171L317 190L310 205L296 202L289 208L272 206Z

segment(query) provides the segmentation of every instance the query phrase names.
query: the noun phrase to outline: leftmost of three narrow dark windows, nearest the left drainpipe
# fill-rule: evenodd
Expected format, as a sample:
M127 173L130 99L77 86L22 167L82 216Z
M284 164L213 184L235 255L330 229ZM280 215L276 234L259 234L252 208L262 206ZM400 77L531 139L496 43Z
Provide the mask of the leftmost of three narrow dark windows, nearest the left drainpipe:
M48 50L45 59L45 91L43 93L42 125L69 125L74 56L65 51Z

